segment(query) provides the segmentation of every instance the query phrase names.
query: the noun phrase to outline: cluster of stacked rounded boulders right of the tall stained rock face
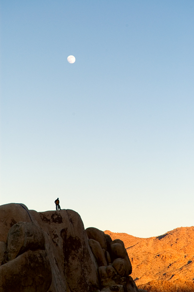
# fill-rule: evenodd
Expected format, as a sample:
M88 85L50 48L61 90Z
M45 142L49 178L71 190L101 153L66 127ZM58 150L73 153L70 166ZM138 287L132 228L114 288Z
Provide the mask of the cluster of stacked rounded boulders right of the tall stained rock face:
M135 282L129 276L132 266L124 243L94 227L86 230L90 248L96 258L101 291L138 291Z

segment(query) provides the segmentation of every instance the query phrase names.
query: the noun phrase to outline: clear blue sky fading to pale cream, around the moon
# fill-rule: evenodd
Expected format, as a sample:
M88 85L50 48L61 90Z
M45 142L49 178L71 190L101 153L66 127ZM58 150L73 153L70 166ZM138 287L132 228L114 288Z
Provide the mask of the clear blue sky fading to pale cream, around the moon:
M194 225L194 1L1 0L0 204ZM67 57L76 62L69 64Z

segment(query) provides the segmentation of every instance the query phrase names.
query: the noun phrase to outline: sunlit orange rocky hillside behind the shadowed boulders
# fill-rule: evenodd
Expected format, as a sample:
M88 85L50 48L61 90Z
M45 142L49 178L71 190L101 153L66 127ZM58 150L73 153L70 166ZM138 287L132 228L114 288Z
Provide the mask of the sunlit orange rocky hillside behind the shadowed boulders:
M148 291L194 291L194 227L180 227L151 238L106 230L127 249L138 288Z

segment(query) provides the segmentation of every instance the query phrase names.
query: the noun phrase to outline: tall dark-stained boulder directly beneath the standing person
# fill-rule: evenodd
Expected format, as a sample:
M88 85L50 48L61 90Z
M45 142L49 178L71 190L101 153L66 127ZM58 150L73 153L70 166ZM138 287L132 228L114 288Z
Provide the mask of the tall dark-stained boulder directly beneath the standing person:
M98 288L97 264L80 215L73 210L30 211L45 231L52 267L50 292L86 292Z

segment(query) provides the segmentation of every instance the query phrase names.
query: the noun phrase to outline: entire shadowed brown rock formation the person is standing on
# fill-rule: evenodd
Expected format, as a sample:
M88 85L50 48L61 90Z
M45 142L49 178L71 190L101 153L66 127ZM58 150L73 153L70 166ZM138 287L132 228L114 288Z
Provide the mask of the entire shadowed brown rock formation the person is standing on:
M0 292L137 292L124 243L72 210L0 206Z

